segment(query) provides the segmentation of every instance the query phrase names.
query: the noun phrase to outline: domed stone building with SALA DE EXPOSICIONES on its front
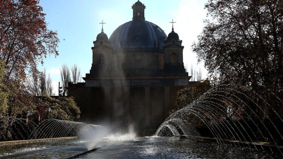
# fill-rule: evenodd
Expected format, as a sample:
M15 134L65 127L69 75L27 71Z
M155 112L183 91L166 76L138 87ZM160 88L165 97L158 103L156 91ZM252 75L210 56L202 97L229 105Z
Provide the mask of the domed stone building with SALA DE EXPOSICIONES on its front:
M134 124L154 130L168 117L178 90L191 86L183 63L182 40L172 27L168 34L145 20L145 5L132 6L133 18L108 38L103 32L93 42L90 72L85 83L69 82L82 120ZM149 131L147 131L149 132Z

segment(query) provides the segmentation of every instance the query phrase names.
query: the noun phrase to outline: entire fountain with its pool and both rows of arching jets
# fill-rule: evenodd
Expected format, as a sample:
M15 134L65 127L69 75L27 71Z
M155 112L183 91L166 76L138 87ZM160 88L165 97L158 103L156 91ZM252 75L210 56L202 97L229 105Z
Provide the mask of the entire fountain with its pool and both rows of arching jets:
M269 95L282 105L275 93ZM155 136L143 138L132 128L111 134L82 122L2 117L0 158L280 158L283 120L276 106L243 86L219 85L171 114Z

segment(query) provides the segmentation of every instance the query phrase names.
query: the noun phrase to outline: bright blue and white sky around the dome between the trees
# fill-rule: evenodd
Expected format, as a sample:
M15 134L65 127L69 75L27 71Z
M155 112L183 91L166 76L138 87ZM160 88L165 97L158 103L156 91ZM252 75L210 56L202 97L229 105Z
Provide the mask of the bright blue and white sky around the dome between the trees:
M48 29L56 30L60 39L59 56L54 55L44 60L42 70L46 67L47 73L53 80L53 86L57 91L60 81L59 68L62 64L69 67L77 64L82 72L89 73L92 63L93 41L101 32L102 20L106 23L104 32L111 36L112 32L130 20L132 20L132 5L137 0L41 0L39 5L46 13L45 20ZM183 40L184 63L190 68L200 67L203 78L207 77L203 64L197 65L196 54L191 51L191 45L197 40L197 36L203 28L203 20L206 18L204 5L207 0L141 0L145 4L145 20L160 26L168 35L174 19L174 31ZM55 92L56 95L58 91Z

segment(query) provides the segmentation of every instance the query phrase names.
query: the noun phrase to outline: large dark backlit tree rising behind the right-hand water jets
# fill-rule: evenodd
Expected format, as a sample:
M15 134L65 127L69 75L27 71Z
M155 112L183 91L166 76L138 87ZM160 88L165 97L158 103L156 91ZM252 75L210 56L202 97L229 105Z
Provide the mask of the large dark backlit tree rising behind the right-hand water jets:
M276 117L265 101L283 115L282 102L270 97L283 96L282 0L209 0L205 8L212 18L193 44L198 60L212 78L255 92L249 106L257 116L263 109Z

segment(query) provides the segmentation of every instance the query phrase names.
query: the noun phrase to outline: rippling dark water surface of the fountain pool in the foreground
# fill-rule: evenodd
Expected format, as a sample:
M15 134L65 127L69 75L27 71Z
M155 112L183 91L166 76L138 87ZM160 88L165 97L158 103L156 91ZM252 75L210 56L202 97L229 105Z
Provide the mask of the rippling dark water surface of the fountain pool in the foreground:
M246 147L219 145L215 141L196 141L178 137L144 137L128 141L104 138L97 147L104 147L81 156L87 158L190 158L190 159L275 159L279 154L256 151ZM49 141L33 144L0 145L0 158L66 158L87 151L79 140Z

